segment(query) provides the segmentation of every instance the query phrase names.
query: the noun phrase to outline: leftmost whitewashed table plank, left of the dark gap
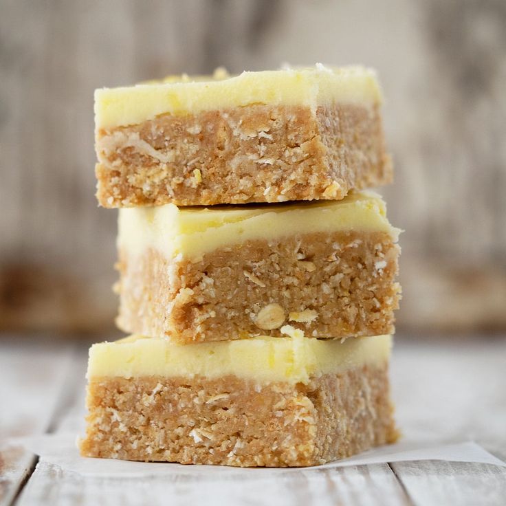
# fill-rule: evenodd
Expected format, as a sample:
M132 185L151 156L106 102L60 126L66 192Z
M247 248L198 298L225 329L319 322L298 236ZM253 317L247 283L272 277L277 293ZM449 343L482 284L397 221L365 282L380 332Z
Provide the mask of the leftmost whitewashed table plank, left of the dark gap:
M12 502L31 474L35 456L11 437L50 430L72 369L72 345L12 340L0 345L0 505Z

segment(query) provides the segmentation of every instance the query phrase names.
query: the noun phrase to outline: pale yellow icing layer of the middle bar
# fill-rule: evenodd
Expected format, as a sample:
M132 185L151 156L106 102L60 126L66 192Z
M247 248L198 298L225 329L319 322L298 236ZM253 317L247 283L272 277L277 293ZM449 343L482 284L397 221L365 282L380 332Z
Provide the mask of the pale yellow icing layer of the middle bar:
M122 208L118 247L129 255L153 248L168 258L198 259L206 252L255 239L292 234L357 230L399 230L386 219L385 203L374 192L352 192L340 201L308 201L212 208Z

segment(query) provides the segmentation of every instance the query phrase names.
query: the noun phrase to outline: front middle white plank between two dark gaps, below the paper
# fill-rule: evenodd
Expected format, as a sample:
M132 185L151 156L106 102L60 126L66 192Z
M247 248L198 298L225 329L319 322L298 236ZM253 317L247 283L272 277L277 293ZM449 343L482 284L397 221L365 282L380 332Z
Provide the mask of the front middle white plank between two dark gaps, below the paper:
M258 475L257 475L258 476ZM223 485L223 483L222 483ZM25 487L18 506L71 505L272 505L404 506L411 503L388 465L299 471L271 478L230 478L217 487L214 478L83 478L42 463Z

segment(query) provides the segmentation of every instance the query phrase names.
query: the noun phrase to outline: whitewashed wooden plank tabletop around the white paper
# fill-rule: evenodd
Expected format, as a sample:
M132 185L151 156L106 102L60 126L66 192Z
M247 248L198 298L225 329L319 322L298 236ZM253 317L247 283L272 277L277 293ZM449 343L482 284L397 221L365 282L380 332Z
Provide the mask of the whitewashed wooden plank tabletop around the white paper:
M87 345L0 338L0 443L11 437L76 433L82 426ZM393 359L401 428L417 437L473 439L506 459L506 339L402 340ZM163 464L162 464L163 465ZM219 505L205 480L85 477L39 462L22 447L0 450L0 506ZM259 501L260 494L270 500ZM230 479L234 504L506 505L506 468L421 461Z

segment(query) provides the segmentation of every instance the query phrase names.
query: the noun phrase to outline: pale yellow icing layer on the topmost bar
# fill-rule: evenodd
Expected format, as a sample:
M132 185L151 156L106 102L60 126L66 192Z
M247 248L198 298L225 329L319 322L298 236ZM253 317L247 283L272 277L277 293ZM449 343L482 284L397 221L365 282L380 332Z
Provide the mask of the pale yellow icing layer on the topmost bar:
M331 102L381 102L376 74L364 67L243 72L229 77L169 77L132 87L95 91L97 129L151 120L159 114L188 115L251 104L305 105Z

